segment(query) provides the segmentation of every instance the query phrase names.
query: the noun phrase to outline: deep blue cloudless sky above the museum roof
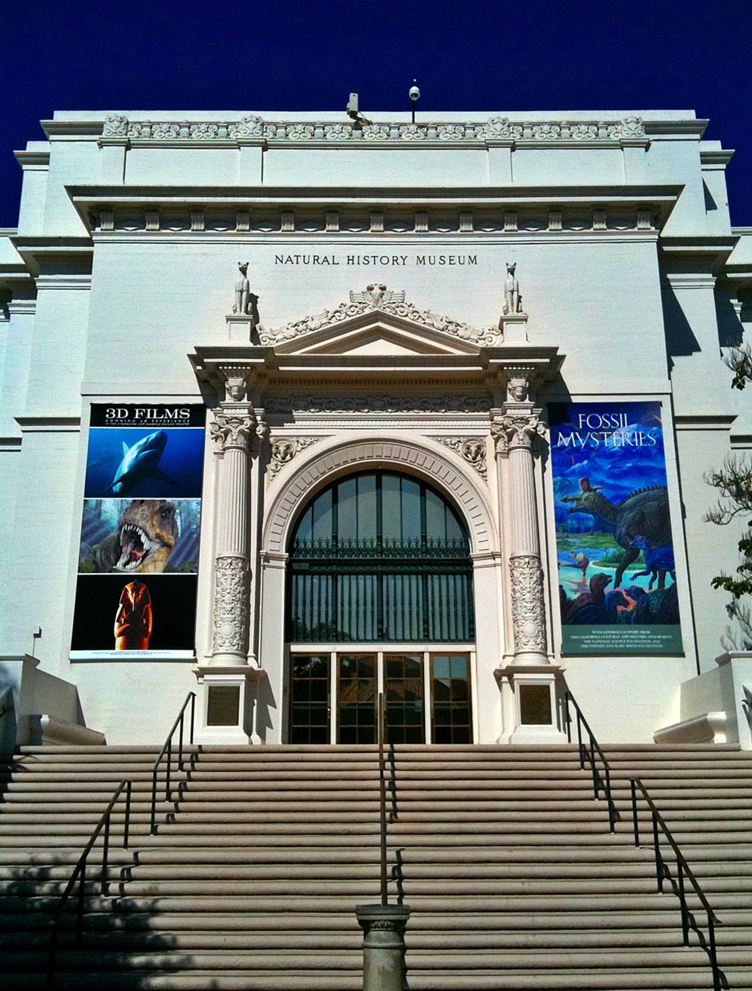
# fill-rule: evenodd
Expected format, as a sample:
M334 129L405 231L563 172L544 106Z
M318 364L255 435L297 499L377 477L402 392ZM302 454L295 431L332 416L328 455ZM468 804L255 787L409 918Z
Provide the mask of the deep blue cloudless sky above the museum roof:
M731 221L752 225L752 3L540 0L118 4L6 0L0 226L15 149L54 110L694 109L736 149Z

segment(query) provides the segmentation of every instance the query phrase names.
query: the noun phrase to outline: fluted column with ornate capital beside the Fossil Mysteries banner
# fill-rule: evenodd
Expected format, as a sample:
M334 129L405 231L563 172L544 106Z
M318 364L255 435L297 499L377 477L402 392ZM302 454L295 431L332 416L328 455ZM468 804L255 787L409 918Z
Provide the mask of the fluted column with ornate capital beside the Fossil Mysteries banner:
M528 383L513 379L507 401L494 411L490 432L496 457L508 460L511 583L514 663L548 664L546 610L543 597L538 508L535 495L533 442L545 436L540 410L528 401Z

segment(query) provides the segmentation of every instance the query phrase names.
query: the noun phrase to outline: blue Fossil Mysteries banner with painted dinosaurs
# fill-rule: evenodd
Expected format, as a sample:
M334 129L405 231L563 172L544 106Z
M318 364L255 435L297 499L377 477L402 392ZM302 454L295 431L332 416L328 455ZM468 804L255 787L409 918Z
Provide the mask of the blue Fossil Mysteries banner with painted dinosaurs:
M552 403L563 654L682 651L659 402Z

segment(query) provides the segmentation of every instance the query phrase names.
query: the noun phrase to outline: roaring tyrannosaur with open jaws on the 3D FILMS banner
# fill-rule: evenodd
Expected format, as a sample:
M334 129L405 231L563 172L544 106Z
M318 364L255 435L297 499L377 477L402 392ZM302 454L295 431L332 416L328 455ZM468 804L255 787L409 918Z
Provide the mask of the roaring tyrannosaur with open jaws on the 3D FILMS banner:
M123 510L115 533L92 547L90 560L97 572L154 574L164 571L179 535L174 502L137 498Z

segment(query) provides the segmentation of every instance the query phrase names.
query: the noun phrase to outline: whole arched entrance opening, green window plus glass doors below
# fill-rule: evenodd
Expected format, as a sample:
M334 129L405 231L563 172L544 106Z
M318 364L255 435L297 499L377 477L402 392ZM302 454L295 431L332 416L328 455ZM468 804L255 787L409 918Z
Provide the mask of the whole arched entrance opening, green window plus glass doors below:
M470 540L431 486L389 471L338 479L288 544L291 743L473 739Z

